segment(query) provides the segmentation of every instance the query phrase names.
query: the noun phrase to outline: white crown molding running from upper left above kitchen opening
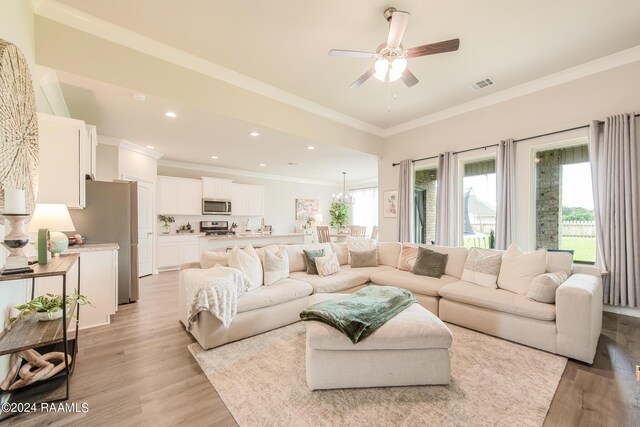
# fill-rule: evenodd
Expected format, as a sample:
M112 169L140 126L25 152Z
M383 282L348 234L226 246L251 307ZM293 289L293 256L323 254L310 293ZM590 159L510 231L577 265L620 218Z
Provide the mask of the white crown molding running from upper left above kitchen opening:
M300 110L315 114L376 136L381 136L383 129L362 120L339 113L315 102L301 98L290 92L278 89L244 74L225 68L199 56L177 49L150 37L115 25L78 9L72 8L57 0L32 0L34 12L47 19L108 40L161 59L166 62L187 68L200 74L224 81L231 85L254 92L258 95L274 99Z

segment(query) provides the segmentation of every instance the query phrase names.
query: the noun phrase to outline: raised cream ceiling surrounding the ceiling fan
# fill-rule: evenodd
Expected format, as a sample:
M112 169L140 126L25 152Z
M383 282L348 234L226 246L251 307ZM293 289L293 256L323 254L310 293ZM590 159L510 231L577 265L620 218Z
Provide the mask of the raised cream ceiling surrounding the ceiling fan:
M380 128L640 45L638 0L61 1ZM390 112L387 85L348 88L370 60L327 55L374 50L388 6L411 13L405 47L461 40L458 52L410 60L420 83L392 85ZM471 88L488 76L495 86Z

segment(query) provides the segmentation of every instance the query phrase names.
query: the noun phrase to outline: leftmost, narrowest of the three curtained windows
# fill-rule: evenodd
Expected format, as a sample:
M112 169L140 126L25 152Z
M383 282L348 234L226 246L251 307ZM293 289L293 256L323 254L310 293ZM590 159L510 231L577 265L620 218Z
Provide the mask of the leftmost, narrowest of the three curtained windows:
M432 166L415 171L413 196L416 243L431 243L436 239L437 170Z

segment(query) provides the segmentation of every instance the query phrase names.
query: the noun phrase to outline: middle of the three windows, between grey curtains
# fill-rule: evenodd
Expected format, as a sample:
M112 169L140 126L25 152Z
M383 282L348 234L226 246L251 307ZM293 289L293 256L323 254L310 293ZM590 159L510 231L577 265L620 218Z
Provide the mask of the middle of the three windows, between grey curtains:
M496 160L464 164L462 235L467 248L493 248L496 229Z

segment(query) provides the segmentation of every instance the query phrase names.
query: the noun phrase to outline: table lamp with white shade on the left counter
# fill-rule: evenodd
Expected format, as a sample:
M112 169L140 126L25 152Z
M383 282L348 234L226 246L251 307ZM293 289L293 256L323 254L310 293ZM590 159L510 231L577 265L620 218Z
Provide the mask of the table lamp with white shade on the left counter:
M62 231L75 231L66 205L38 203L29 222L29 232L38 233L38 264L48 262L47 250L58 256L69 247L69 238ZM49 231L54 230L54 231Z

